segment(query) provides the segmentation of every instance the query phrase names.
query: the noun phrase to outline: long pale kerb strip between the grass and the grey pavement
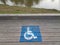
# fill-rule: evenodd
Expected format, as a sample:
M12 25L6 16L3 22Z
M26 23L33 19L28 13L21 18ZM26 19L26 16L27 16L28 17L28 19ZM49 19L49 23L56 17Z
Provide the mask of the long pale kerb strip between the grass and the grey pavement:
M60 14L0 14L0 16L60 16Z

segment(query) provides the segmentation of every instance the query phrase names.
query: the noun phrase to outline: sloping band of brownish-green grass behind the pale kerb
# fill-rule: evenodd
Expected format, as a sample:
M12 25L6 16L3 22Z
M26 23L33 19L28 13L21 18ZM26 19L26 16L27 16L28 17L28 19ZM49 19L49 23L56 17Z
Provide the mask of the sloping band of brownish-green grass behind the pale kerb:
M38 14L38 13L60 13L55 9L27 8L18 6L0 5L0 14Z

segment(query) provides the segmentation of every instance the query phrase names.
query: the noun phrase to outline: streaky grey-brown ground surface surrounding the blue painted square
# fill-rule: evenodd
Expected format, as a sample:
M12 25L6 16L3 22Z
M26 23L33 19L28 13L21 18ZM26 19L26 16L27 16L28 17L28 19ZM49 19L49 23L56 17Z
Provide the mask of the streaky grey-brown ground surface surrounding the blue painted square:
M60 17L1 18L0 45L60 45ZM39 25L42 42L19 42L21 26Z

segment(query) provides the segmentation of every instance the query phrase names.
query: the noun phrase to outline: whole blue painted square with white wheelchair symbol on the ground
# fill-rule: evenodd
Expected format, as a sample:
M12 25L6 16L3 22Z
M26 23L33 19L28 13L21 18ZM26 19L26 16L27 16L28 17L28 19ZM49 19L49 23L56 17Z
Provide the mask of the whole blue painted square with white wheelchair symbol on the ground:
M42 42L39 26L22 26L20 42Z

